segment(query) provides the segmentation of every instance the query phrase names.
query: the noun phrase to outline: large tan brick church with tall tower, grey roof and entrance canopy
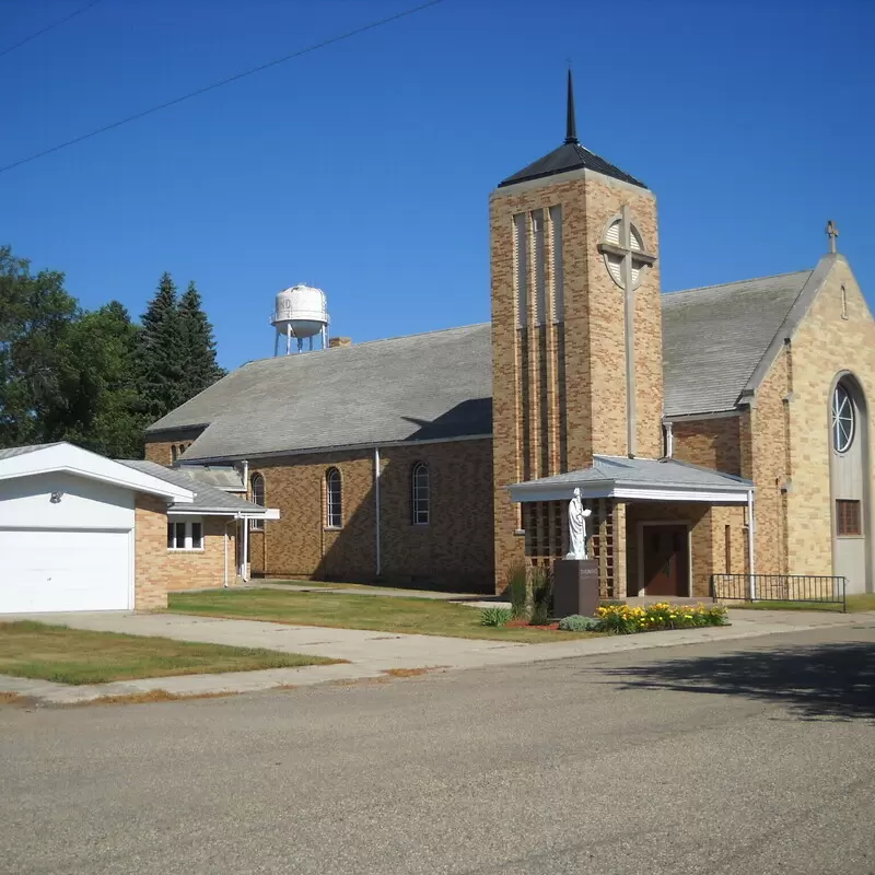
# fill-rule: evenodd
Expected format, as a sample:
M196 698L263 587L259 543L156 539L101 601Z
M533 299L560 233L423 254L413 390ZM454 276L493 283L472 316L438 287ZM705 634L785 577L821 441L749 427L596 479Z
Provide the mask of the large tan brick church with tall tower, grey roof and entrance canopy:
M569 75L564 142L490 196L491 323L248 362L147 458L279 510L241 524L244 576L500 593L564 556L580 488L605 597L872 592L875 322L837 233L664 294L655 195L579 142Z

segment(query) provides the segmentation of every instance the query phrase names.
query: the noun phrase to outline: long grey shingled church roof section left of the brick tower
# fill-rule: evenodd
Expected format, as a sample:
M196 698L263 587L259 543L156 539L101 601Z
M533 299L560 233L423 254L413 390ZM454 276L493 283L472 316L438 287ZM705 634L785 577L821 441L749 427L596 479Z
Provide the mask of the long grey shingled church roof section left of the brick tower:
M489 323L249 362L147 430L207 425L180 457L492 433Z

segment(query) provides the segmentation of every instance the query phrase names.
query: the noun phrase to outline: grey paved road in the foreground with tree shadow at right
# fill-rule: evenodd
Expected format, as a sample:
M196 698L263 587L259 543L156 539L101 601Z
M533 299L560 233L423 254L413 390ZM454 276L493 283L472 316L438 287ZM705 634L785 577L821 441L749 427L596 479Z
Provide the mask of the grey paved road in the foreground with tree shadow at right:
M875 629L0 708L9 873L875 873Z

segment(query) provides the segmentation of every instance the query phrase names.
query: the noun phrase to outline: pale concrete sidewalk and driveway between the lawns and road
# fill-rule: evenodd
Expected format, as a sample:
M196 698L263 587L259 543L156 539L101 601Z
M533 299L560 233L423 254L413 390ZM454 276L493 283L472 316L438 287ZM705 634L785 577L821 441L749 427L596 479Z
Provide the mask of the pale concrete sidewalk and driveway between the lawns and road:
M555 644L522 644L438 635L408 635L361 629L287 626L258 620L228 620L175 614L40 614L19 617L46 623L135 635L161 635L179 641L199 641L244 648L266 648L348 660L338 665L270 668L209 675L143 678L114 684L71 687L45 680L0 675L0 690L37 701L71 704L107 696L130 696L164 690L176 696L253 692L273 687L299 687L330 681L355 681L390 676L397 669L478 668L520 665L575 656L596 656L620 651L673 648L709 641L732 641L761 635L798 632L826 626L875 628L875 614L817 614L814 611L735 610L732 626L648 632L638 635L561 641ZM10 617L9 619L15 619Z

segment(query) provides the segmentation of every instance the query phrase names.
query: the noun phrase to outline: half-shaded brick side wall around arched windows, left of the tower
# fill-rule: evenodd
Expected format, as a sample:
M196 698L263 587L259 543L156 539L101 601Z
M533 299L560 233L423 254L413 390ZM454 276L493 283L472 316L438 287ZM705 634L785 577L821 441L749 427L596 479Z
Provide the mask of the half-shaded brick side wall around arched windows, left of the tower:
M430 522L411 516L413 465L430 476ZM340 529L329 529L325 475L342 478ZM250 533L252 571L285 579L374 581L376 506L372 450L259 460L265 499L280 518ZM492 465L489 439L397 446L381 451L381 574L388 582L430 582L491 590Z

